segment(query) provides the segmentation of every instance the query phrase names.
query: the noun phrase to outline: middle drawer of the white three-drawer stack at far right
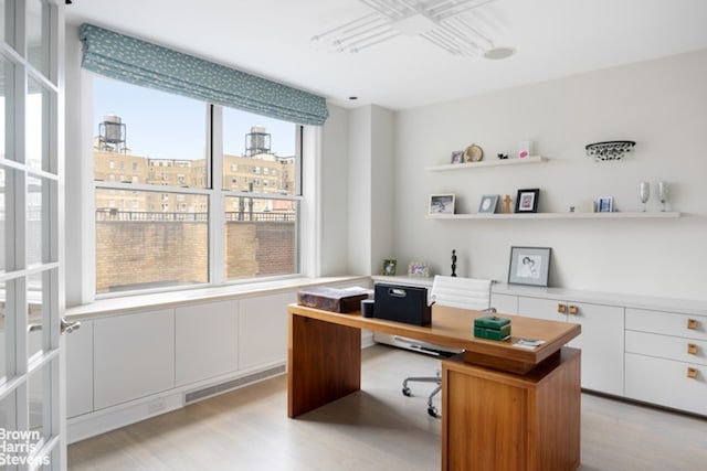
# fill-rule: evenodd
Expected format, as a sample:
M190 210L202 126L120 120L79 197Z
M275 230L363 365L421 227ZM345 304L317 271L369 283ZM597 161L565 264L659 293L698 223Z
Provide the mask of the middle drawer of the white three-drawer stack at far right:
M625 347L629 353L707 365L707 341L626 331Z

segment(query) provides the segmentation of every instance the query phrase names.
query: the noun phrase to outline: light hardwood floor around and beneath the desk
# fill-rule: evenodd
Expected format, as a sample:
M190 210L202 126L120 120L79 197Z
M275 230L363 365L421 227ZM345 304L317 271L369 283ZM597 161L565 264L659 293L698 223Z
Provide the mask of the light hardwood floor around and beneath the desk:
M362 390L298 419L287 418L279 376L74 443L68 468L439 470L441 420L426 413L433 386L401 394L404 376L437 366L433 357L376 345L363 351ZM707 420L583 394L579 469L707 470Z

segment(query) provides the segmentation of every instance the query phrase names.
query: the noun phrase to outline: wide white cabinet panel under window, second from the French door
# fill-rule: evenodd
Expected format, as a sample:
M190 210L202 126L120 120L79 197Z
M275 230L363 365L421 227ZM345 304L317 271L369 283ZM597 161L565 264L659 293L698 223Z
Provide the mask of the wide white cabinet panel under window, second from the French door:
M175 387L175 310L94 321L95 409Z

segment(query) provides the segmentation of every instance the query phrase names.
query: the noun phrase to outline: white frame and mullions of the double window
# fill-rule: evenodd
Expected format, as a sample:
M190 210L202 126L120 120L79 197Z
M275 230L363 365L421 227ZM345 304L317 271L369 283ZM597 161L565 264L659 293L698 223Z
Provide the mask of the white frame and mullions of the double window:
M85 72L85 76L89 77L91 86L85 87L89 90L93 90L93 81L95 77L101 77L97 74ZM101 77L104 78L104 77ZM128 83L126 83L128 84ZM131 85L131 84L128 84ZM82 92L85 94L86 92ZM88 92L93 93L93 92ZM96 299L108 299L108 298L118 298L126 296L137 296L137 295L149 295L156 292L170 292L170 291L182 291L194 288L204 288L204 287L219 287L219 286L232 286L232 285L243 285L243 283L252 283L252 282L268 282L273 280L279 279L288 279L302 277L305 269L303 268L305 264L304 254L303 254L303 231L304 225L303 221L306 218L303 217L303 211L305 211L305 197L303 190L303 174L304 174L304 152L303 152L303 141L304 136L307 128L315 128L314 126L307 125L295 125L295 159L297 163L295 164L295 185L296 191L295 194L273 194L273 193L264 193L264 192L243 192L243 191L233 191L226 188L223 181L223 164L224 164L224 153L223 153L223 107L220 105L202 103L204 105L204 117L207 120L205 126L205 148L209 153L207 157L207 184L204 188L183 188L177 185L157 185L157 184L147 184L147 183L124 183L123 181L115 179L112 181L96 181L93 178L93 146L87 144L89 148L89 161L92 163L92 172L89 179L89 206L92 208L92 213L87 215L87 222L89 228L87 231L92 232L91 240L93 240L93 264L91 264L91 272L86 274L93 281L91 283L91 289L87 290L85 288L84 282L84 293L87 293L91 297L91 300ZM93 110L91 113L89 121L93 122ZM249 113L249 111L246 111ZM93 133L93 130L92 130ZM93 141L93 139L92 139ZM159 169L159 165L150 165L150 168ZM204 283L192 283L192 285L176 285L176 286L166 286L166 287L154 287L154 288L145 288L138 290L118 290L114 292L97 292L97 287L95 283L96 279L96 247L95 247L95 234L96 234L96 201L95 201L95 192L96 190L113 190L113 191L144 191L144 192L152 192L152 193L163 193L168 192L170 194L196 194L196 195L204 195L208 200L208 240L209 240L209 250L208 250L208 278L209 280ZM278 276L267 276L267 277L255 277L255 278L238 278L238 279L226 279L226 267L225 267L225 201L228 197L232 196L247 196L252 199L261 199L261 200L272 200L272 201L295 201L297 202L297 218L296 218L296 231L295 231L295 260L294 266L295 270L292 274L278 275ZM88 291L88 292L87 292ZM85 300L89 301L89 300Z

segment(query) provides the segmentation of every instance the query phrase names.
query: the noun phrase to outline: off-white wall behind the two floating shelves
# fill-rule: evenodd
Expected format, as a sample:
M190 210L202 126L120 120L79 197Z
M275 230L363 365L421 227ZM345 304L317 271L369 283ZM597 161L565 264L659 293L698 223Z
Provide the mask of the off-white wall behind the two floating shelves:
M472 79L472 78L469 78ZM552 247L550 285L707 299L707 51L605 69L400 111L395 140L395 257L449 272L457 250L462 276L506 280L509 248ZM351 138L352 139L352 138ZM453 150L479 144L485 159L536 142L548 163L425 172ZM594 162L590 142L637 142L621 161ZM613 196L637 211L639 182L671 185L677 220L433 221L431 193L453 192L457 212L474 213L483 194L539 188L541 212L566 212Z

